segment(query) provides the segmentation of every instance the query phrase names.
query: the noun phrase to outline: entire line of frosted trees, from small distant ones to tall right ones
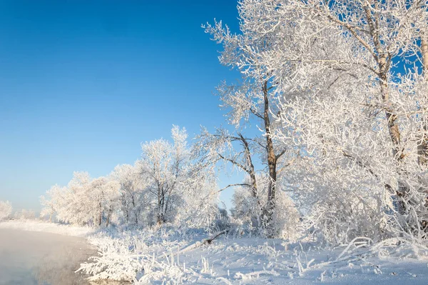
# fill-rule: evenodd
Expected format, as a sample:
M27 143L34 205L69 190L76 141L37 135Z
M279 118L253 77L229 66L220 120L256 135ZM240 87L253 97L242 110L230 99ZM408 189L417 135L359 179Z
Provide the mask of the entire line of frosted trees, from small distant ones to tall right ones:
M202 129L192 146L175 127L173 143L144 144L134 166L55 186L47 213L209 224L223 190L214 166L232 166L245 180L224 189L235 187L233 219L250 231L292 237L299 224L330 244L424 239L427 3L243 0L238 10L239 34L203 26L223 45L220 63L242 74L218 87L230 127Z

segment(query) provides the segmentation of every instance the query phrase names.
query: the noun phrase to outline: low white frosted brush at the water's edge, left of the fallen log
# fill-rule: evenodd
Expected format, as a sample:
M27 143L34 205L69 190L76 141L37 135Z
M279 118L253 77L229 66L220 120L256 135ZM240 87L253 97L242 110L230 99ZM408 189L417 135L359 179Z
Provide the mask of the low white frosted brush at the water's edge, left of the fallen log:
M98 248L98 256L81 264L78 270L91 274L91 281L110 279L147 284L151 279L160 279L181 283L183 275L193 271L178 266L174 254L203 236L203 231L165 225L134 231L103 231L89 238Z

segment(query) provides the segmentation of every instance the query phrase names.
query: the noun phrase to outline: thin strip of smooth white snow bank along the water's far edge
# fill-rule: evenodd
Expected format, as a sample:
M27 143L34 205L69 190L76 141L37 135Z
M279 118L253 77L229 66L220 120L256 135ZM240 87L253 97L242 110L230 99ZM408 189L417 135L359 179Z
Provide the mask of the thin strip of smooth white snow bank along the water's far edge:
M64 224L46 223L36 220L10 220L0 222L0 229L21 229L24 231L44 231L65 236L86 237L96 230L86 226L69 226Z

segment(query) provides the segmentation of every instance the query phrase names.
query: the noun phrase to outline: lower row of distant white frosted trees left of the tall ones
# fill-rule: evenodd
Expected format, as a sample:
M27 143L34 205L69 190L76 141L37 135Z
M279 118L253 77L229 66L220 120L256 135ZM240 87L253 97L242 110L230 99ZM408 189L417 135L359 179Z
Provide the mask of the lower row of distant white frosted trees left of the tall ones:
M185 129L174 126L171 136L172 142L143 144L140 160L118 165L108 176L75 172L67 186L55 185L41 197L42 216L90 226L215 226L221 215L213 168L201 166L205 161L188 146Z

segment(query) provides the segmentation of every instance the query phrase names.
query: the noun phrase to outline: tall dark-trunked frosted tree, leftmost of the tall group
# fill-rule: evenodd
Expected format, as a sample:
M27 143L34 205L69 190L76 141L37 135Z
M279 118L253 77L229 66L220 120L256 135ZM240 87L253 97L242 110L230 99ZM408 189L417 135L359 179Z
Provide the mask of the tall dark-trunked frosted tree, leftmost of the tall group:
M285 164L281 160L285 160L284 154L287 151L287 146L275 141L274 134L280 126L273 116L279 111L275 91L277 84L272 77L272 69L263 62L263 54L275 49L277 39L269 34L254 33L250 26L245 24L258 16L251 14L252 11L248 11L246 5L245 1L238 5L241 20L240 34L232 34L228 26L223 26L221 21L215 22L213 25L208 24L203 28L205 28L205 32L213 36L213 40L218 44L223 44L223 51L219 56L220 63L238 69L243 76L243 82L240 85L232 86L223 83L218 87L220 100L223 101L221 106L228 109L228 122L235 126L237 132L229 135L222 131L222 134L214 136L220 136L220 140L226 143L237 141L243 147L242 151L238 151L232 157L224 157L222 154L220 157L249 175L250 186L248 189L255 196L258 190L253 156L260 155L260 161L266 166L265 173L269 177L266 203L260 205L263 208L263 217L261 217L263 226L268 229L275 211L277 172L280 164ZM263 3L257 5L263 9ZM263 23L260 24L263 25ZM248 123L251 121L256 122L260 136L250 138L239 130L243 123L250 126ZM242 154L242 158L240 158L240 154Z

